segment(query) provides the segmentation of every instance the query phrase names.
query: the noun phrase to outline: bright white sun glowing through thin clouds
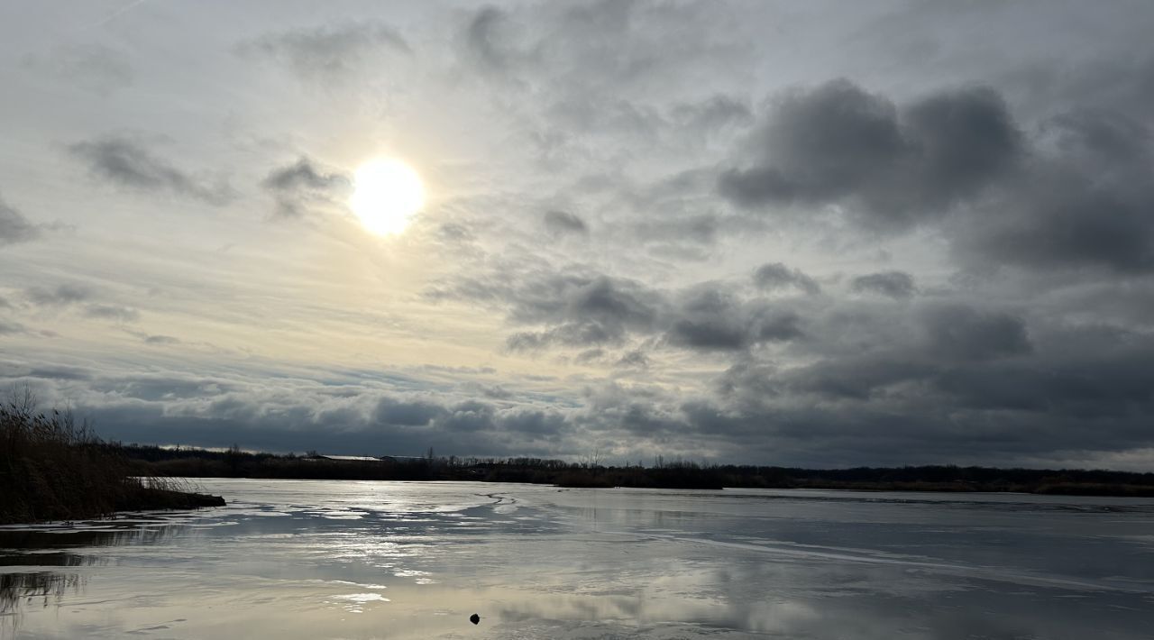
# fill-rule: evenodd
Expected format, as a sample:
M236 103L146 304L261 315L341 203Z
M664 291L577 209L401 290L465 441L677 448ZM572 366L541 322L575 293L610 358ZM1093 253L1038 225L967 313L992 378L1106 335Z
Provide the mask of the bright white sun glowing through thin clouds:
M405 231L425 206L425 185L412 167L394 158L369 160L357 170L349 206L377 235Z

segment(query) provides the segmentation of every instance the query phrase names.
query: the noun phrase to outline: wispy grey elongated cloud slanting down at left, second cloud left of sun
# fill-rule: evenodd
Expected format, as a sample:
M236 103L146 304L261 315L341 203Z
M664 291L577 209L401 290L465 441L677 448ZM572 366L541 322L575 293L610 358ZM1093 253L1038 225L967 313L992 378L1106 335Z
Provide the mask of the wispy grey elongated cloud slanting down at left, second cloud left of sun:
M89 172L95 178L121 187L190 197L215 206L235 198L227 181L181 171L127 137L110 136L77 142L69 145L68 150L88 164Z

